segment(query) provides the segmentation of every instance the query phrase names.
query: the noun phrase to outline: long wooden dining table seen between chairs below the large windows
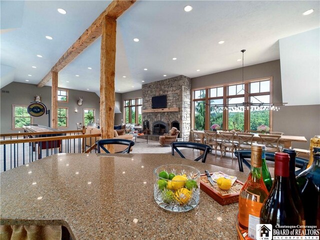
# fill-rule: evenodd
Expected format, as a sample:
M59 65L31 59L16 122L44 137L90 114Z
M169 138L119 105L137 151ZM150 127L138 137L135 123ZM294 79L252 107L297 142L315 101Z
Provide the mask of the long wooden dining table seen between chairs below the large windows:
M200 138L200 142L204 143L205 132L202 130L197 130L197 131L193 131L193 132L197 133ZM253 134L254 134L253 141L256 141L256 142L261 141L261 138L259 137L259 133L253 133ZM219 136L218 130L217 130L217 135ZM236 135L234 135L234 139L237 140ZM284 148L288 148L288 149L291 149L292 141L307 142L307 140L304 136L281 135L281 137L279 138L279 143L283 144Z

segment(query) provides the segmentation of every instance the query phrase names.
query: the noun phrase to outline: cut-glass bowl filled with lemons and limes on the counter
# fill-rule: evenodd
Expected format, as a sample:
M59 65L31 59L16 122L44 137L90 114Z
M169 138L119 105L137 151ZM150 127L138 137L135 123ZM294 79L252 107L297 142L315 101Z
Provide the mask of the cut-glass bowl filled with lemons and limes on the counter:
M193 209L200 198L200 172L182 164L156 167L154 175L154 200L169 211Z

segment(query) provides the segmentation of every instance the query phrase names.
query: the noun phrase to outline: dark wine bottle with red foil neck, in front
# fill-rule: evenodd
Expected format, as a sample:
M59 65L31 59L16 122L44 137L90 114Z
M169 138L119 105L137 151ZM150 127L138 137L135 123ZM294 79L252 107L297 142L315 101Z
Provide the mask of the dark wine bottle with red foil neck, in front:
M289 159L287 153L276 152L274 155L274 181L261 208L260 223L272 224L273 229L277 229L276 225L289 226L291 228L281 229L291 231L302 225L302 220L291 195Z

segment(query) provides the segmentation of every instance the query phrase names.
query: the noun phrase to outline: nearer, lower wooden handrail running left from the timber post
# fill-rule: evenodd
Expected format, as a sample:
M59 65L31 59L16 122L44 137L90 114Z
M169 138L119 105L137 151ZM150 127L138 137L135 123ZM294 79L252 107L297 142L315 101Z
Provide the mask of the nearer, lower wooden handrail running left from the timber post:
M94 136L101 136L101 133L81 134L81 135L67 135L67 136L48 136L48 137L8 139L8 140L0 140L0 145L13 144L13 143L22 143L22 142L54 141L54 140L62 140L62 139L86 138L86 137L94 137Z

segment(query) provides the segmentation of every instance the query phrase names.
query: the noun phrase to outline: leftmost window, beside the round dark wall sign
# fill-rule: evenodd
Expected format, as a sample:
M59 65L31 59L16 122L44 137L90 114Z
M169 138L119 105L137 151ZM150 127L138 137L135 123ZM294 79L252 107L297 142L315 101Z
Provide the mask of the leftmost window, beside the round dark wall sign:
M27 105L12 105L12 129L31 124L32 118L27 109Z

